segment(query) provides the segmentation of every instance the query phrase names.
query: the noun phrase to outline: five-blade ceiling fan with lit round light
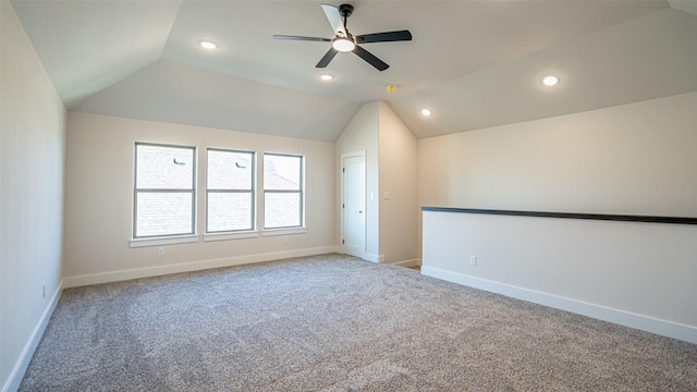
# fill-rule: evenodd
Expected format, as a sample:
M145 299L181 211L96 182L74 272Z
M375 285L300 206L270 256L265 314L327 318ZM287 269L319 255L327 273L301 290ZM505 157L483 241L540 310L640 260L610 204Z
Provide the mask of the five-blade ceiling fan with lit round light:
M409 30L399 30L399 32L386 32L386 33L372 33L372 34L364 34L359 36L354 36L348 33L346 28L346 19L351 16L353 13L353 5L351 4L341 4L339 8L331 4L322 4L322 10L327 15L327 20L329 20L329 24L334 30L335 37L333 39L330 38L318 38L318 37L301 37L301 36L289 36L289 35L274 35L276 39L290 39L290 40L306 40L306 41L320 41L320 42L331 42L331 48L325 54L325 57L319 60L316 68L326 68L329 65L329 62L337 56L339 52L354 52L358 54L359 58L367 61L370 65L378 69L378 71L384 71L390 65L388 65L384 61L378 59L369 51L363 49L358 46L358 44L374 44L374 42L393 42L393 41L404 41L412 40L412 33ZM342 21L343 17L343 21Z

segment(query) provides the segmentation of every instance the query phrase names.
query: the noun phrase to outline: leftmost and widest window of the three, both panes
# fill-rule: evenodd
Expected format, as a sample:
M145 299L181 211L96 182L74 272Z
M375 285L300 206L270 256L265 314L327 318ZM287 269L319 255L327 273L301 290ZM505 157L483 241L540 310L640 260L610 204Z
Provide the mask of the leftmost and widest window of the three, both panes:
M196 147L135 144L133 238L195 234Z

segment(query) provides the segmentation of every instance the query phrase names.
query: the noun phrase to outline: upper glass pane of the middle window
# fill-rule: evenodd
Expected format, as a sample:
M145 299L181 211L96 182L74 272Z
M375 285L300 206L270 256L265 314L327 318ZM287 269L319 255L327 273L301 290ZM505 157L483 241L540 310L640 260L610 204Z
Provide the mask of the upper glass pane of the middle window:
M254 152L208 150L209 189L252 189Z

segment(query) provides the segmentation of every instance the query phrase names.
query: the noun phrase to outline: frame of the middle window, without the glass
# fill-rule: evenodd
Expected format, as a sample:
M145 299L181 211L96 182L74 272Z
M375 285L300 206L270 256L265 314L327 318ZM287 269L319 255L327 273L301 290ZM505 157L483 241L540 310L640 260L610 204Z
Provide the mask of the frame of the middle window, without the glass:
M247 189L216 189L216 188L209 188L208 187L208 181L210 179L210 166L209 166L209 158L210 151L219 151L219 152L231 152L231 154L235 154L235 152L242 152L242 154L249 154L250 157L250 164L252 164L252 170L250 170L250 188ZM205 230L205 235L204 235L204 241L219 241L219 240L232 240L232 238L246 238L246 237L252 237L252 236L256 236L256 232L257 232L257 182L256 182L256 173L257 173L257 152L254 150L244 150L244 149L234 149L234 148L221 148L221 147L208 147L206 149L206 230ZM250 206L249 206L249 215L250 215L250 221L249 221L249 228L248 229L237 229L237 230L220 230L220 231L209 231L208 230L208 223L210 221L210 216L209 216L209 194L210 193L248 193L250 195Z

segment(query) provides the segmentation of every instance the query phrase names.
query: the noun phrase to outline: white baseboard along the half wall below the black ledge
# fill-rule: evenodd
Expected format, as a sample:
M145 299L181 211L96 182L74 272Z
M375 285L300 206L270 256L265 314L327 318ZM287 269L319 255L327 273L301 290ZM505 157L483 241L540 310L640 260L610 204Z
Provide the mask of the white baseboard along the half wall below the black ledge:
M697 327L427 266L421 267L421 274L697 344Z

